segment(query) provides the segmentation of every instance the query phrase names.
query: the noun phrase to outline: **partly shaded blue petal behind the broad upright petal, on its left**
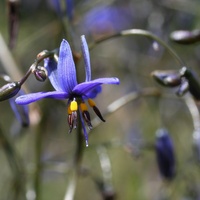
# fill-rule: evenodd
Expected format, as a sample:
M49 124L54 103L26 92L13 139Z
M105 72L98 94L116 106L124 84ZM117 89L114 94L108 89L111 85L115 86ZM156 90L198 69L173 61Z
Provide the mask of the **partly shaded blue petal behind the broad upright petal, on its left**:
M54 89L62 91L58 80L57 62L53 58L46 58L44 59L44 67L48 71L48 77Z

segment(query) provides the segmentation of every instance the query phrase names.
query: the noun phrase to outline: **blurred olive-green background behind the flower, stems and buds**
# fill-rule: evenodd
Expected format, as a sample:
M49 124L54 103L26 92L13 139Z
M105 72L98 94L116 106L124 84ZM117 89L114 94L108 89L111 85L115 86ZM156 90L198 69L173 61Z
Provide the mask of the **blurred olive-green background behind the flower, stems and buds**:
M64 2L61 1L62 4ZM80 36L83 34L90 44L102 36L133 28L148 30L160 37L187 66L200 73L199 44L184 46L169 39L172 31L199 28L198 0L77 0L73 3L73 19L67 20L67 14L60 17L50 0L21 0L19 32L10 53L22 74L39 52L58 48L63 38L69 39L75 52L80 52ZM8 2L1 0L0 34L7 44L8 27ZM0 48L3 51L3 47ZM90 57L93 79L107 76L120 79L119 86L103 86L103 92L96 98L95 102L102 113L113 101L132 91L155 87L163 96L138 98L106 116L106 123L101 123L90 132L75 199L103 199L93 180L94 177L103 177L98 154L102 145L110 159L111 185L116 199L199 199L199 165L193 160L190 112L183 98L176 97L174 90L159 86L150 76L156 69L179 69L181 66L162 46L156 51L153 41L143 36L118 37L102 42L92 49ZM83 69L81 60L77 65L81 81L85 77ZM8 73L1 60L0 72ZM19 78L15 73L9 75L13 80ZM53 90L48 80L41 83L34 77L27 80L26 87L30 92ZM1 102L0 129L6 133L21 159L25 172L21 178L28 191L27 199L35 199L32 190L39 159L42 169L38 184L40 199L61 200L64 199L71 173L76 131L68 134L66 102L43 99L34 104L30 106L31 124L22 128L9 103ZM40 110L39 115L36 108ZM92 111L90 113L94 118ZM169 130L175 144L177 176L171 182L166 182L160 176L153 148L155 132L162 127ZM15 172L10 167L3 145L1 147L0 200L15 199L12 196Z

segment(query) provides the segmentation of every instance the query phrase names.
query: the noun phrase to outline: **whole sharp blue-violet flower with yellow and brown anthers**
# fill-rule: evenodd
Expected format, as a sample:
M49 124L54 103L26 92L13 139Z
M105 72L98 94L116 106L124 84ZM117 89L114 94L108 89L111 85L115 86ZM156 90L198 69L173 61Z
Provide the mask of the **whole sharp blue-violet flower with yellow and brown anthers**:
M88 104L93 108L99 118L105 121L96 107L95 102L91 99L91 95L94 96L94 89L102 84L119 84L119 79L111 77L91 80L90 55L85 36L81 36L81 44L86 71L85 82L78 84L72 52L68 42L63 39L60 45L58 64L56 64L53 59L45 59L45 67L49 73L49 79L55 91L23 95L16 99L16 103L29 104L43 98L68 99L69 132L77 126L77 111L79 110L86 146L88 146L88 134L84 121L89 128L92 128L92 125L85 101L87 100Z

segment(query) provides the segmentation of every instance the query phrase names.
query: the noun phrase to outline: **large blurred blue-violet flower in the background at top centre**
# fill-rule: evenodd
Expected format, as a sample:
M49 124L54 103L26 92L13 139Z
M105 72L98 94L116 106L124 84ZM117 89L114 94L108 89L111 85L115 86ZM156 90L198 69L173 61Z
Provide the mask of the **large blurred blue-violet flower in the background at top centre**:
M128 6L97 6L82 21L86 34L111 34L132 27L133 16Z

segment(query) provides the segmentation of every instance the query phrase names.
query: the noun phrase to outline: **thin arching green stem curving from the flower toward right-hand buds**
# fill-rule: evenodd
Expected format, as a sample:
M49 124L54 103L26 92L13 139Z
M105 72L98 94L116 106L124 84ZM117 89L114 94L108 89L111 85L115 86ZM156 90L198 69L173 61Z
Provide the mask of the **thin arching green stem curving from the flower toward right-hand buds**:
M157 37L156 35L154 35L153 33L146 31L146 30L142 30L142 29L129 29L129 30L123 30L120 33L114 34L114 35L110 35L110 36L106 36L104 38L101 38L97 41L95 41L93 44L91 44L89 46L89 49L93 49L97 44L102 43L104 41L107 41L109 39L112 38L116 38L116 37L122 37L122 36L133 36L133 35L139 35L139 36L145 36L147 38L152 39L153 41L158 42L160 45L162 45L163 47L165 47L167 49L167 51L170 53L170 55L183 67L185 66L183 60L176 54L176 52L167 44L165 43L163 40L161 40L159 37Z

